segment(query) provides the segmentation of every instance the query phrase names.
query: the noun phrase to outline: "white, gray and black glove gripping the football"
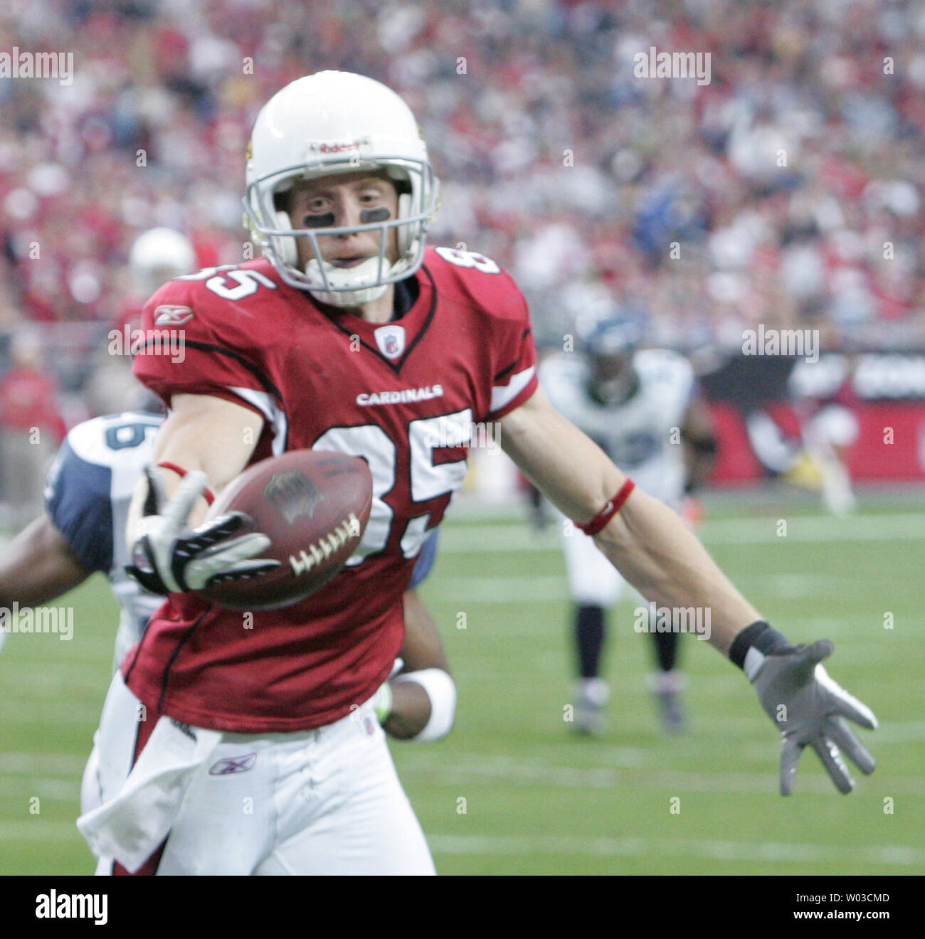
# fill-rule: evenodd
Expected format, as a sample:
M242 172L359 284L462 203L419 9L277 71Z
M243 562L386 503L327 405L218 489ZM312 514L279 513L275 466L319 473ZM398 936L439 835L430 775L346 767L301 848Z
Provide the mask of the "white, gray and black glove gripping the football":
M280 562L257 558L270 546L265 534L252 532L237 538L250 519L242 512L211 518L196 529L186 528L195 501L206 488L206 474L199 470L183 477L172 500L164 494L160 473L147 467L149 486L146 515L138 541L132 548L134 564L126 571L150 593L187 593L210 583L257 577L279 567Z

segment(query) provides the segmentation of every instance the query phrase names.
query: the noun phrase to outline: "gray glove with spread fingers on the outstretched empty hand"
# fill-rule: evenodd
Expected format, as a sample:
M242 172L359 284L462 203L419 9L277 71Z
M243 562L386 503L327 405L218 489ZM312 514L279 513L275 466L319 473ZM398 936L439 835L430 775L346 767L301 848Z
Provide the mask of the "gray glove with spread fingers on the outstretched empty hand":
M745 670L768 716L780 729L780 794L794 792L796 765L803 747L812 747L840 793L850 793L855 780L841 759L846 753L866 775L876 763L848 727L849 717L874 730L877 718L829 677L820 663L832 654L832 643L790 646L778 654L750 650Z

